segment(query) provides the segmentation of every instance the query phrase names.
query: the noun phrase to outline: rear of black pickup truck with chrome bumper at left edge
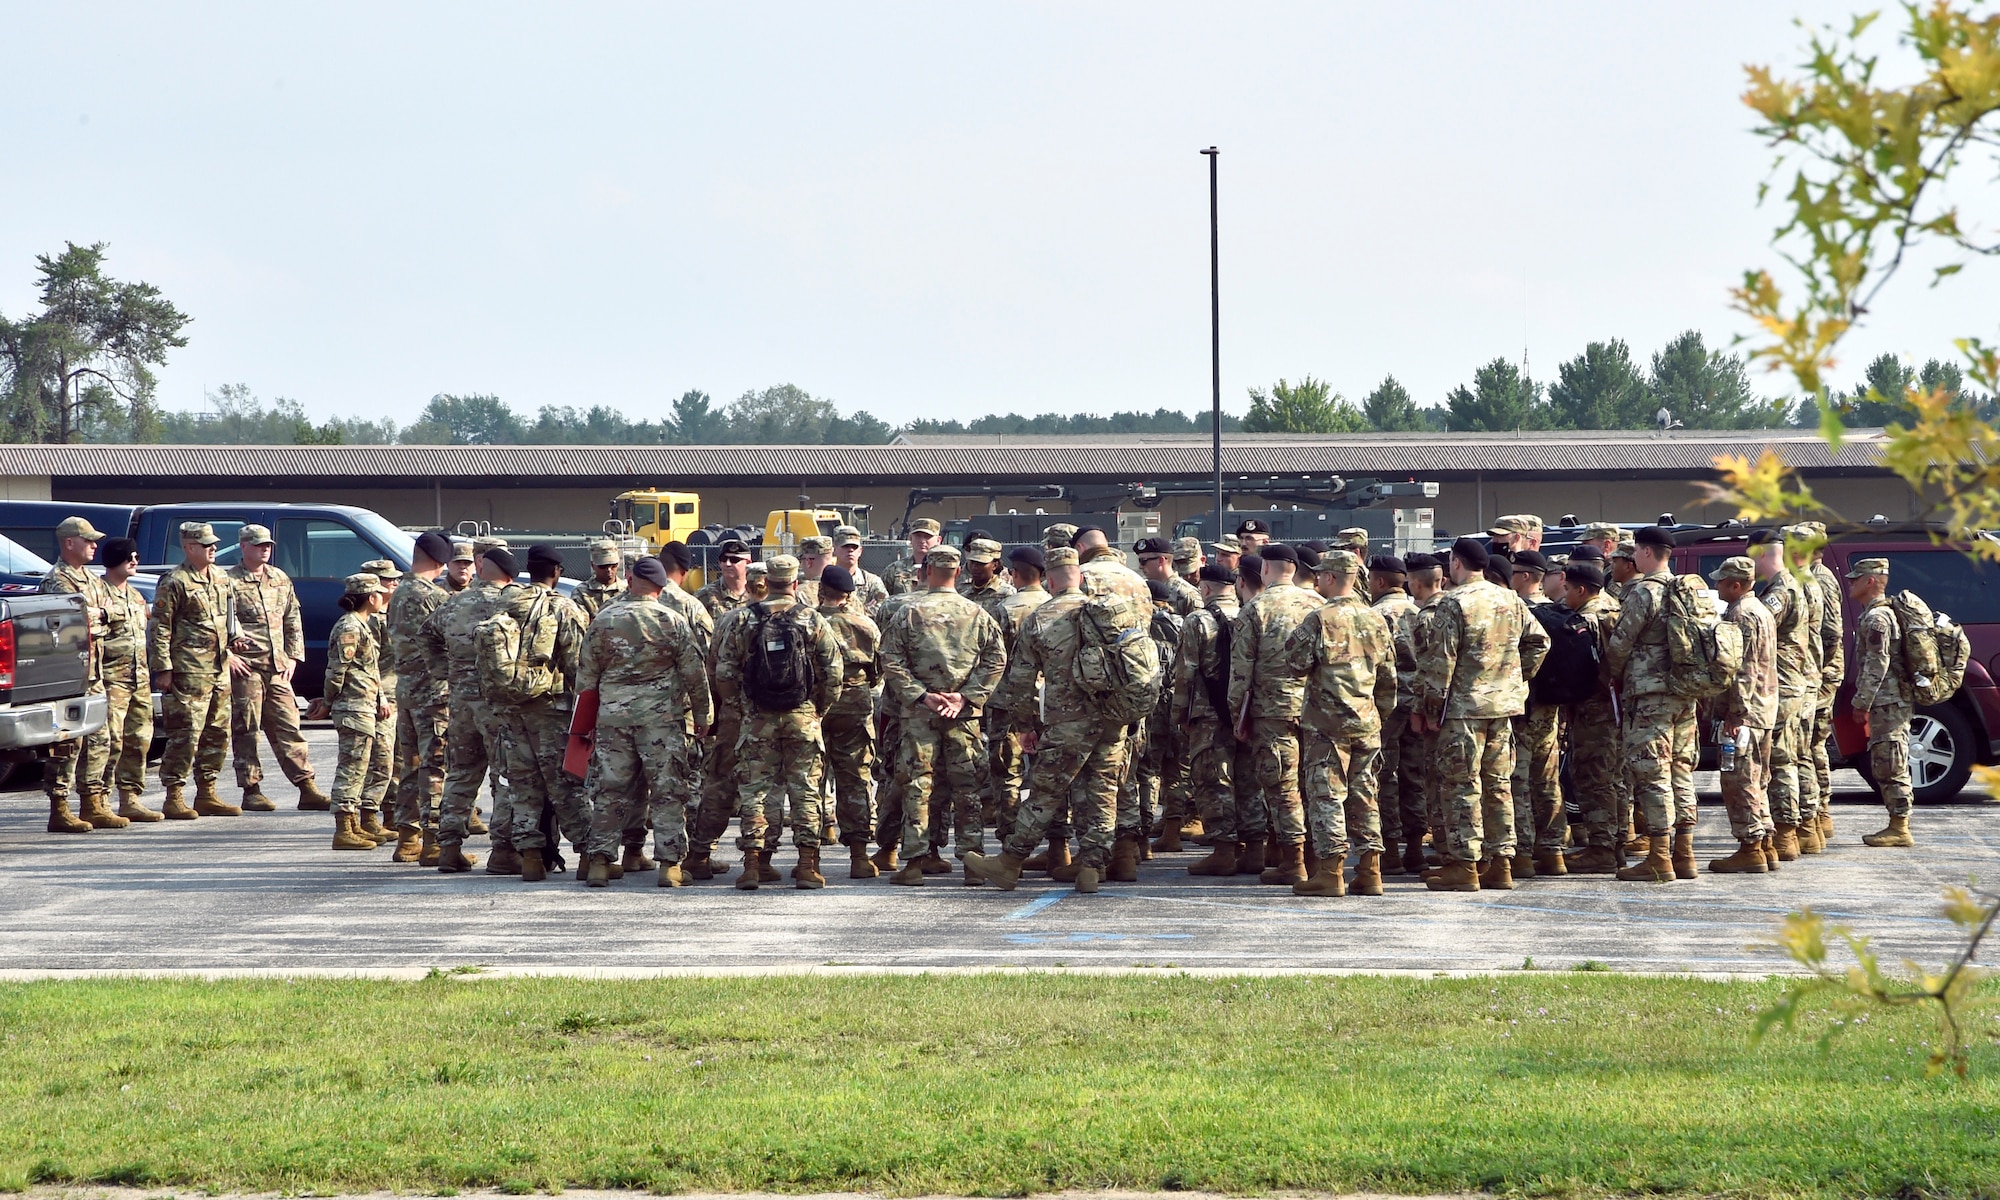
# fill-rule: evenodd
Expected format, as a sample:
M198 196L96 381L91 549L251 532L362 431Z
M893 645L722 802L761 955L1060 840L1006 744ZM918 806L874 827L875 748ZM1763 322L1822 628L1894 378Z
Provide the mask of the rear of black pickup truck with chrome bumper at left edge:
M88 686L84 598L0 596L0 778L104 728L104 696Z

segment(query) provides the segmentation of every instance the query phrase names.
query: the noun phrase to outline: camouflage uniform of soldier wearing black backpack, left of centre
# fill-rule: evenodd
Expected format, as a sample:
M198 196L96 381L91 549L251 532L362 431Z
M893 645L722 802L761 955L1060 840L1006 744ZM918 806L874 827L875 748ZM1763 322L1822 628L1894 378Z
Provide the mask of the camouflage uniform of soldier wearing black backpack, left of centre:
M780 614L798 606L796 596L776 594L770 600L752 604L744 620L730 626L728 640L716 648L716 690L724 696L740 696L744 726L736 742L736 770L742 778L736 790L736 844L742 850L762 850L768 832L766 810L778 794L792 798L792 844L818 846L824 836L820 824L820 770L824 742L820 738L820 716L840 700L840 642L826 620L806 610L806 630L812 638L806 652L812 654L814 690L798 708L766 712L744 692L744 670L752 652L752 638L762 628L764 614ZM762 610L762 612L760 612Z

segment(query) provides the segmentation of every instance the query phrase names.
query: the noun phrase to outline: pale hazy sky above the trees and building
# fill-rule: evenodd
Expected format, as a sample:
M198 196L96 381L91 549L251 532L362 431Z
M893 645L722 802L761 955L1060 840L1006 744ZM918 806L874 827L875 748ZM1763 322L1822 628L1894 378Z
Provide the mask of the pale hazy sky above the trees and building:
M1744 332L1776 210L1742 64L1848 10L8 2L0 312L110 242L194 316L172 408L1206 408L1218 144L1224 404L1390 372L1434 404L1524 340L1552 378ZM1842 376L1992 334L1968 274L1912 274Z

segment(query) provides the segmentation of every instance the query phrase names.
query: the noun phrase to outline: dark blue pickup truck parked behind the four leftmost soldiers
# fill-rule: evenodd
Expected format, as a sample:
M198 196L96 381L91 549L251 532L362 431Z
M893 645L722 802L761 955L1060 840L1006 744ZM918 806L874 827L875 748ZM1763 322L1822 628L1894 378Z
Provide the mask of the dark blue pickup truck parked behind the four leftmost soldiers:
M0 536L40 558L54 560L56 526L66 516L82 516L106 534L138 542L144 570L166 574L180 562L180 522L206 520L222 538L216 564L236 566L236 530L260 524L276 538L276 566L292 576L306 624L306 660L292 686L300 696L318 696L326 678L326 636L340 620L342 580L370 558L388 558L410 570L416 536L384 516L350 504L70 504L64 500L0 502Z

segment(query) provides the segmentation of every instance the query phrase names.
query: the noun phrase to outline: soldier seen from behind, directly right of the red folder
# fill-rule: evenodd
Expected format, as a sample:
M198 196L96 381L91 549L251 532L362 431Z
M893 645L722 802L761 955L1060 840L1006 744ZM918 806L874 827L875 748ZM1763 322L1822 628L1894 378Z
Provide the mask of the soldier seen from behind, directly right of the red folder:
M708 672L694 626L662 604L668 582L658 558L632 564L626 592L598 610L584 634L576 690L598 694L596 744L590 752L590 838L584 882L610 882L640 792L652 808L658 886L688 882L688 806L694 802L696 742L714 724ZM692 742L690 742L692 734Z

